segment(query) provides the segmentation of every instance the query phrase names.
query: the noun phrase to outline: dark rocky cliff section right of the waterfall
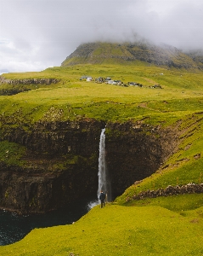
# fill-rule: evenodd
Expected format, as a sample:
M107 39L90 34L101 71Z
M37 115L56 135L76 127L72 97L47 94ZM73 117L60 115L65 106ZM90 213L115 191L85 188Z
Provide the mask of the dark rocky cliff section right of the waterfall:
M132 181L149 177L173 154L178 130L163 130L150 125L109 124L106 159L113 195L121 195Z

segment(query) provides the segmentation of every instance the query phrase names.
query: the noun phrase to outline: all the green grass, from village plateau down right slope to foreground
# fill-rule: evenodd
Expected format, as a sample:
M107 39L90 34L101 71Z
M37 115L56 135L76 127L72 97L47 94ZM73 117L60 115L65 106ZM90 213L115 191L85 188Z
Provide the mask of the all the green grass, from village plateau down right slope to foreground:
M121 87L81 81L82 75L143 84ZM203 196L177 195L126 201L146 189L201 183L203 166L203 73L149 65L78 65L41 73L8 73L6 79L53 78L14 96L0 96L0 132L39 121L144 119L150 125L180 122L181 143L155 174L128 188L104 209L94 207L75 224L32 230L0 255L203 255ZM149 86L161 84L163 89ZM5 84L0 85L6 87ZM20 86L20 85L16 85ZM30 85L29 85L30 86ZM4 129L4 130L3 130ZM14 159L5 154L18 151ZM13 151L12 151L13 150ZM0 157L20 162L25 148L1 143ZM198 155L198 157L196 157ZM20 162L20 164L22 164Z

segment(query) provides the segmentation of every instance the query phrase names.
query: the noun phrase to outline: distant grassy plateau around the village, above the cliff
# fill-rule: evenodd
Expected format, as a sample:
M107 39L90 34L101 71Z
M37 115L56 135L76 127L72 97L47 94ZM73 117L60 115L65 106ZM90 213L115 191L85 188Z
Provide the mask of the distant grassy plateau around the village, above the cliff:
M96 84L81 81L82 75L111 77L124 83L134 81L144 87ZM0 97L2 113L7 115L21 109L31 121L42 119L51 107L63 109L63 120L89 117L125 121L149 116L148 122L151 123L159 123L161 119L178 119L203 109L202 73L150 66L79 65L48 68L41 73L8 73L3 76L6 79L60 79L58 84L41 84L34 90ZM149 88L155 84L161 84L163 89Z

